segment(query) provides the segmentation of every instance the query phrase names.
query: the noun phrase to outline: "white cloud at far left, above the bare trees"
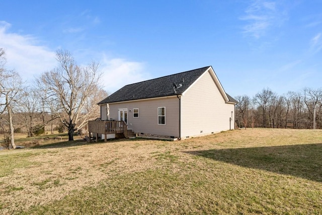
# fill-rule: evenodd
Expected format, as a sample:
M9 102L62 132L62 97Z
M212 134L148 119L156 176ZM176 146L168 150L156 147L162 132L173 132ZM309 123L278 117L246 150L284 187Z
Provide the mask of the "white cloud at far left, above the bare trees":
M0 47L7 55L8 69L15 69L24 80L32 80L34 75L52 69L56 65L55 53L37 43L31 35L8 33L11 25L0 21Z

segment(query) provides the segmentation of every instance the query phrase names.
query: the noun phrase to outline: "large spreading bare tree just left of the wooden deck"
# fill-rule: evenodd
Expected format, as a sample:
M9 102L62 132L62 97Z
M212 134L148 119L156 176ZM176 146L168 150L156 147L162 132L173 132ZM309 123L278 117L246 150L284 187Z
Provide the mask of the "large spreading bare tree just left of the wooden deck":
M68 139L73 140L75 130L99 116L99 112L86 109L89 98L101 89L99 64L92 62L88 66L79 66L66 50L57 50L56 59L58 67L43 73L38 83L46 91L47 100L59 104L54 114L68 128Z

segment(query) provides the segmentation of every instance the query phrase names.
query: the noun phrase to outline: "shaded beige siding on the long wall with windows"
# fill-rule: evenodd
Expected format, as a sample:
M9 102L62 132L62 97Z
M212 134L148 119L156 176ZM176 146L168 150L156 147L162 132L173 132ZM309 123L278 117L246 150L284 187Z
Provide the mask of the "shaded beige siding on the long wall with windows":
M118 109L127 108L128 128L134 132L179 137L179 99L177 97L112 103L109 107L110 118L115 120L118 120ZM165 125L158 125L158 107L166 107ZM138 118L133 118L133 108L139 109Z

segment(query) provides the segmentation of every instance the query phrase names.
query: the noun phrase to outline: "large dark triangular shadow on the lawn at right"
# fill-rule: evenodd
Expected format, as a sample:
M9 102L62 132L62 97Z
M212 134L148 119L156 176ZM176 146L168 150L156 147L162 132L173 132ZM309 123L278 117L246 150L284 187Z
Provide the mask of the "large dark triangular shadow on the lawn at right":
M322 144L186 152L238 166L322 182Z

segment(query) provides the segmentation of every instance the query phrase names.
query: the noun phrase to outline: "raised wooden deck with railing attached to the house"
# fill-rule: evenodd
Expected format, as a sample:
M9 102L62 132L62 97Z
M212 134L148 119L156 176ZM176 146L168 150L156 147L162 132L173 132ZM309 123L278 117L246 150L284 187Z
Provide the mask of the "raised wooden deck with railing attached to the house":
M98 141L98 134L105 135L105 141L107 134L124 133L126 136L127 124L125 121L89 121L88 123L89 133L96 133L96 141Z

